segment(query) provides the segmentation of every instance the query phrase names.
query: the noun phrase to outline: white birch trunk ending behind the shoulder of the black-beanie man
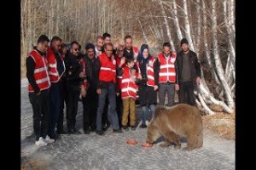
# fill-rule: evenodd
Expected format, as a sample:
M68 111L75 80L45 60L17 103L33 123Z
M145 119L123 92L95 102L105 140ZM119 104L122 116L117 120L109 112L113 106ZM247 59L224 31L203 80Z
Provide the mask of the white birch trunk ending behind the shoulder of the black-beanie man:
M194 46L194 43L193 43L193 41L192 41L191 31L190 31L187 0L183 0L183 12L184 12L185 32L186 32L186 37L187 37L188 42L189 42L189 48L190 48L192 51L195 51L195 46Z

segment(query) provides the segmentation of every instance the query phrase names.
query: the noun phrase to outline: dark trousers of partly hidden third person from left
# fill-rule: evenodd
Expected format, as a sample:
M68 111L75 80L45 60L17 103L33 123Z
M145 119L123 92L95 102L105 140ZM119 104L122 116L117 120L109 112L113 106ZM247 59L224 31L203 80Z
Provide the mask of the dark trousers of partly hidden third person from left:
M67 82L61 80L61 111L60 115L58 117L58 122L57 122L57 131L63 131L63 122L64 122L64 102L66 103L67 107ZM67 111L66 111L67 113Z

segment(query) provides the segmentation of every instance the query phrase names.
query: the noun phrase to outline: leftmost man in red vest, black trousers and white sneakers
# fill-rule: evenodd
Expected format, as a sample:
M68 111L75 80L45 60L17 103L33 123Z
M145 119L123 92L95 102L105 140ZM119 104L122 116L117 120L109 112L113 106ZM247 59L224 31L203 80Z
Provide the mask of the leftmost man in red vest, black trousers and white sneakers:
M45 146L52 141L49 139L49 75L45 59L49 38L42 35L38 45L26 57L26 77L28 79L29 100L33 111L33 130L36 135L35 144Z

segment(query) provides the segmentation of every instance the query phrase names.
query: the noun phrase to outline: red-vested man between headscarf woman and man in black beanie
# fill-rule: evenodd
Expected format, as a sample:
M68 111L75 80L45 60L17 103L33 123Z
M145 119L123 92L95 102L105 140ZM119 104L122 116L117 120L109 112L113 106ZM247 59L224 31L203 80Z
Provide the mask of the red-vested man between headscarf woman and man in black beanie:
M163 52L157 57L160 63L159 71L159 102L165 105L166 93L168 97L167 106L174 104L177 64L176 54L171 50L170 42L163 44Z

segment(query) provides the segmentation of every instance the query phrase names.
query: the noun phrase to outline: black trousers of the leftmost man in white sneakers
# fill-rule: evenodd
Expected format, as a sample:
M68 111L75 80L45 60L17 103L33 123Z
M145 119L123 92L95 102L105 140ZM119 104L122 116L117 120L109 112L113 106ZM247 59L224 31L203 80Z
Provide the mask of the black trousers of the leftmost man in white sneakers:
M33 111L33 129L36 140L40 137L45 139L48 132L49 122L49 89L42 90L41 94L29 93L29 101Z

